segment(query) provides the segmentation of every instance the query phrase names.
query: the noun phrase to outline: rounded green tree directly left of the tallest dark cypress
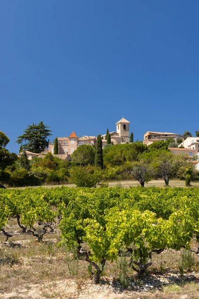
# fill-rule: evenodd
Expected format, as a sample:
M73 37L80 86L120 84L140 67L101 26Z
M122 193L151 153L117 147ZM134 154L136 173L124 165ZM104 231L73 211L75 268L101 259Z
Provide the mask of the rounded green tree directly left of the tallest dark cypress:
M75 163L94 164L96 148L91 145L82 145L78 147L71 155Z

